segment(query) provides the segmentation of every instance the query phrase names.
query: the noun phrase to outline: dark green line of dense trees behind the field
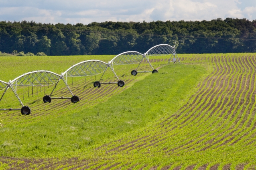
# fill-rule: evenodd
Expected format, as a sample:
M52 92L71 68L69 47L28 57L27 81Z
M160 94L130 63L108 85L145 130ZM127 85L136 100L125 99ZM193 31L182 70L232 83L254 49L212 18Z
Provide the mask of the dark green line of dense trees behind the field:
M176 45L177 53L256 52L252 39L256 39L256 20L233 18L88 25L0 22L0 51L5 53L115 55L125 51L144 53L161 43Z

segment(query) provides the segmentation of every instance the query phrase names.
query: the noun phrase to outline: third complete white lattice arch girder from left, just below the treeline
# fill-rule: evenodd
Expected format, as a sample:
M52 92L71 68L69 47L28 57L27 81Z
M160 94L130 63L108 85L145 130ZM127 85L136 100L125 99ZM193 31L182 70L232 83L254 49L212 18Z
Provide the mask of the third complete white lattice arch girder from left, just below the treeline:
M137 51L127 51L114 57L110 63L116 65L136 64L143 60L144 55Z

